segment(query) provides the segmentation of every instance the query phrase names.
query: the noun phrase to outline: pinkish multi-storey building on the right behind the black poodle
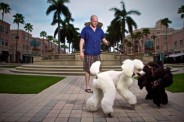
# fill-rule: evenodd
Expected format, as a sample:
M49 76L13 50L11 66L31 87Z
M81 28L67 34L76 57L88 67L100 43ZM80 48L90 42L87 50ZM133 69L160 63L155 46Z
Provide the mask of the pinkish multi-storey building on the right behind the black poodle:
M142 32L146 28L136 29L133 33ZM166 27L161 24L161 20L156 22L155 28L148 28L150 34L143 35L141 39L134 39L132 41L133 51L127 46L125 47L126 53L146 53L146 43L152 42L152 54L159 55L172 54L177 52L184 52L184 30L175 30L174 28L168 28L166 33ZM167 36L166 36L167 35ZM127 40L131 40L131 36L126 36ZM142 43L142 45L140 44ZM177 47L177 48L176 48Z

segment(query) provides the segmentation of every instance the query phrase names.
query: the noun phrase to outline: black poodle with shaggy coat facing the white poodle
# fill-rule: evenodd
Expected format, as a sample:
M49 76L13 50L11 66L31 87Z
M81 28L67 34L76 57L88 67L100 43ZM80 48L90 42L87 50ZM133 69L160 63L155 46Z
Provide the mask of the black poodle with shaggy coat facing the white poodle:
M145 74L138 77L138 85L140 89L146 87L148 93L145 99L153 99L153 103L158 107L160 104L167 104L165 87L173 83L170 68L164 68L162 62L149 62L144 66L143 71Z

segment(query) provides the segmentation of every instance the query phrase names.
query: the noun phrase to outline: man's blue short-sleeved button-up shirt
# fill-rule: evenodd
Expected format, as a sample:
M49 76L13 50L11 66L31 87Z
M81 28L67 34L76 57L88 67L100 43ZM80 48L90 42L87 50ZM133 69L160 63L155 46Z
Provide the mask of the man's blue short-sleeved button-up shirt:
M81 38L84 39L84 54L99 55L101 52L101 40L105 38L105 34L101 28L95 31L90 26L86 26L81 31Z

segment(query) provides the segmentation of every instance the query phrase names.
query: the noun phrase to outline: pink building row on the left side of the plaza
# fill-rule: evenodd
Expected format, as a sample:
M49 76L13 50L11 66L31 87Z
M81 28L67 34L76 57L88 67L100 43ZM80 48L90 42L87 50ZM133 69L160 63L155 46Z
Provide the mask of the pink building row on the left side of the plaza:
M37 50L31 45L34 39L39 42ZM21 29L10 30L10 24L0 20L0 62L25 62L25 57L44 56L48 51L57 54L57 50L58 45L54 42L32 37L32 34Z

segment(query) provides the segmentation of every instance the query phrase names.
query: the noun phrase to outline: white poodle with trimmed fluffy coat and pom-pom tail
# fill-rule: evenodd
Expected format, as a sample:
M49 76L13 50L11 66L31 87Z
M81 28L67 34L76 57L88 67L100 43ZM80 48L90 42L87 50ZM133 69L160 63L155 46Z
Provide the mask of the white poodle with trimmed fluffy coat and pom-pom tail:
M111 116L116 90L130 105L135 106L137 99L129 90L129 87L133 84L134 75L144 74L142 71L143 62L138 59L127 59L123 61L122 71L110 70L105 72L99 71L100 64L100 61L96 61L90 67L91 74L95 75L96 78L93 79L93 94L86 102L87 109L97 111L101 102L103 112Z

